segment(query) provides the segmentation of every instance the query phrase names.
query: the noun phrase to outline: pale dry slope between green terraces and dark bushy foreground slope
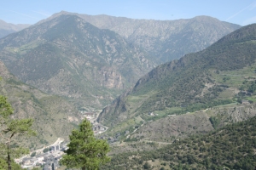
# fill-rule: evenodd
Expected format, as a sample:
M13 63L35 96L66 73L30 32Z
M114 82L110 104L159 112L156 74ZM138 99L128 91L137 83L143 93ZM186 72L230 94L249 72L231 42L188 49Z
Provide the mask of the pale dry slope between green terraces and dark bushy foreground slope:
M148 119L156 118L157 120L145 123L136 133L131 133L129 138L172 143L175 139L187 138L191 134L206 134L213 129L245 121L253 116L256 116L255 105L242 105L235 102L177 116L163 116L159 119L148 116Z

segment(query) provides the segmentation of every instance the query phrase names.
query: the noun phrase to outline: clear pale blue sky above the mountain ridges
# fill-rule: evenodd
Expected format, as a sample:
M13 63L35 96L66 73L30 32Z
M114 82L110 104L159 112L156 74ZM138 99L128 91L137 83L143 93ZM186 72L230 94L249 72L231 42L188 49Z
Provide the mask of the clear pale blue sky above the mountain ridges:
M153 20L208 15L241 26L256 23L256 0L1 0L0 20L35 24L61 10Z

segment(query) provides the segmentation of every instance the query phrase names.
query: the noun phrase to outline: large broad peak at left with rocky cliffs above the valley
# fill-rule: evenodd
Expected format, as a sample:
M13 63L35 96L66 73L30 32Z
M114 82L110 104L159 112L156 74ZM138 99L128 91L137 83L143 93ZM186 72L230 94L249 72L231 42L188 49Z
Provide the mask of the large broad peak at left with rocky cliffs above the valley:
M78 107L108 105L154 68L150 54L117 33L60 15L0 40L0 59L16 77Z

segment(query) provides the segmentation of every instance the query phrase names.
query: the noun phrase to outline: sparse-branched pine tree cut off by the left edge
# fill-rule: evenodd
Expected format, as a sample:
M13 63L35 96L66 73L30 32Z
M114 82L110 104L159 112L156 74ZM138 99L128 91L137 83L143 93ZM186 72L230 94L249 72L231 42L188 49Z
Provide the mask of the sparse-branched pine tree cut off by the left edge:
M12 106L7 101L7 98L0 95L0 154L1 156L7 158L8 169L11 170L11 157L17 158L22 155L28 154L29 150L11 145L15 137L18 134L30 134L35 135L36 133L32 131L32 119L14 119L14 110Z

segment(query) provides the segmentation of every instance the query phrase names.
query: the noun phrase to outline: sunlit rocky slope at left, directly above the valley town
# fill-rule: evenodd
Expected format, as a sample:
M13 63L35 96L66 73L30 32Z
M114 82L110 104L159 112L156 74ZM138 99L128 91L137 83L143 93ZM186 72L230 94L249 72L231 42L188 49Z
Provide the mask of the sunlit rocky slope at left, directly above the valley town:
M15 110L14 117L33 118L32 128L38 133L36 137L18 138L17 144L24 144L31 150L49 145L57 138L68 139L68 135L77 127L81 117L79 111L66 99L45 94L42 91L20 82L9 73L0 60L0 94L8 97Z

